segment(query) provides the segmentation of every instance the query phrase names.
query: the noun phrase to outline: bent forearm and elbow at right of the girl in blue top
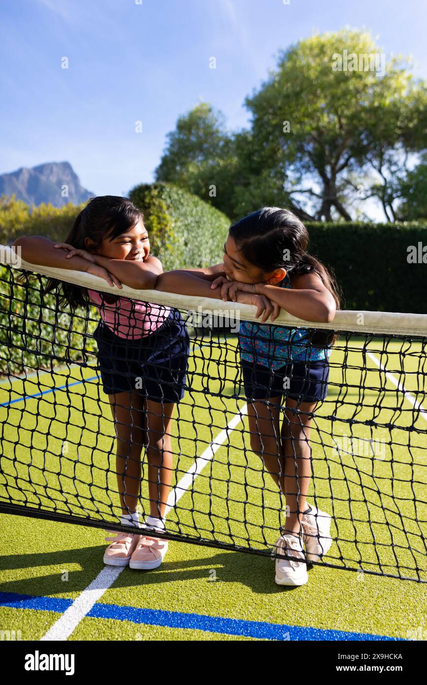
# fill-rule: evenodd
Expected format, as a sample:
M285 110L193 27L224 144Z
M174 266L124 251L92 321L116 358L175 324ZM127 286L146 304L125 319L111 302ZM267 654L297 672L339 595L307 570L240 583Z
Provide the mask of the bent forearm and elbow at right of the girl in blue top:
M255 292L266 295L285 312L305 321L330 323L337 310L331 292L324 286L318 275L311 273L294 276L292 288L257 284Z

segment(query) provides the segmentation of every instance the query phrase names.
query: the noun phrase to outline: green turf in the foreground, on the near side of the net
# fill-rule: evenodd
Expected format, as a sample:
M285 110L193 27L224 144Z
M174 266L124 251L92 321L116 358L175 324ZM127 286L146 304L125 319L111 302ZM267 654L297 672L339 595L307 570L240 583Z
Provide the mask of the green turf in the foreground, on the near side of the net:
M4 514L2 524L1 592L75 599L103 569L99 530ZM275 584L269 559L177 542L159 569L125 569L99 601L400 638L427 631L424 584L313 566L305 586L284 588ZM21 630L22 639L40 639L59 616L0 607L2 630ZM86 618L70 639L138 639L138 632L146 639L151 631L153 639L200 638L183 629Z

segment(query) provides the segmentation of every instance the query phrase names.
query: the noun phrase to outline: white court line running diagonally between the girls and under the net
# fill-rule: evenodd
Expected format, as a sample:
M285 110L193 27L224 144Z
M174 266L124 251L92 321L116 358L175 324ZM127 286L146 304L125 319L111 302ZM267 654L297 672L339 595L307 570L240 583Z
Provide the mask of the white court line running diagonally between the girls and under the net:
M206 464L213 459L216 451L221 447L229 436L229 433L235 429L237 424L242 421L242 416L246 414L247 406L244 404L238 414L233 416L233 419L224 428L215 440L208 445L203 454L198 457L194 464L188 469L187 473L183 475L177 485L171 490L166 504L165 516L170 512L174 505L187 492L187 488L194 483L194 479L205 468ZM104 566L103 570L96 576L94 580L85 588L80 595L73 601L73 604L60 616L55 623L49 628L47 633L40 638L42 641L51 640L67 640L69 636L75 631L81 619L84 619L86 614L90 612L94 603L101 599L103 594L112 586L117 580L118 576L127 566Z

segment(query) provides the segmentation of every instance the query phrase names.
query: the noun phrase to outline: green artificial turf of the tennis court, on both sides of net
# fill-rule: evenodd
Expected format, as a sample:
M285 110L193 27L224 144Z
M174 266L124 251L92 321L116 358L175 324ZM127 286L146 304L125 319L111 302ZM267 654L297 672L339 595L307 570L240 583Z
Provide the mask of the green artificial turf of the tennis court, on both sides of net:
M194 347L192 386L172 427L173 484L244 406L233 339L228 343ZM311 432L314 477L309 501L333 515L335 543L326 562L337 568L313 566L307 585L282 588L274 584L269 558L174 541L159 569L125 569L101 602L403 638L425 630L423 584L339 570L348 566L411 577L419 573L427 580L422 541L422 522L427 519L422 504L425 419L369 357L361 370L362 348L363 340L354 338L345 351L339 345L334 349L328 401L319 408ZM416 343L403 357L398 340L384 349L378 338L367 349L415 399L424 397L426 379L416 373ZM71 366L53 375L1 384L0 501L104 521L120 514L109 406L98 382L78 383L92 375L93 369ZM73 382L77 384L70 386ZM68 391L57 389L13 403L66 384ZM281 501L250 451L247 431L244 418L207 460L170 511L170 532L263 550L274 544ZM357 438L352 449L349 437ZM372 441L380 452L372 452ZM146 510L146 482L141 503ZM102 530L6 514L1 514L1 523L3 592L74 599L103 568ZM215 581L209 580L213 571ZM38 639L58 614L0 608L0 616L3 630L21 630L23 639ZM141 637L135 637L138 631ZM222 637L86 617L71 639Z

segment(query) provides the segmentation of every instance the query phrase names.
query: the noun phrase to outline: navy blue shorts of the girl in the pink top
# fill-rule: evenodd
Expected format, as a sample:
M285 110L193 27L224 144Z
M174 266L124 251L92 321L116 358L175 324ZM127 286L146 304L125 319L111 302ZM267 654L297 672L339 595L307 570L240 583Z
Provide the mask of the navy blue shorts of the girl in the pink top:
M170 403L183 399L190 338L178 310L149 336L120 338L101 321L94 332L104 393L140 389L147 399ZM137 379L141 379L138 381Z

